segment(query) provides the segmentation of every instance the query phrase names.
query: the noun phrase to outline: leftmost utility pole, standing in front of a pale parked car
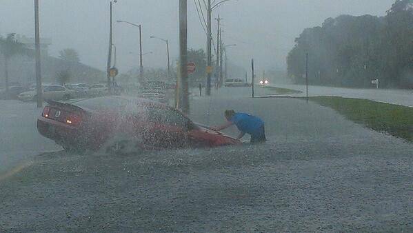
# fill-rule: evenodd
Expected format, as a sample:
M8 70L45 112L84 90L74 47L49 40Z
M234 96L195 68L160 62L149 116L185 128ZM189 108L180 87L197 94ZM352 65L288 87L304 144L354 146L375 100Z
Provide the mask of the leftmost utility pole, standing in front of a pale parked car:
M41 88L41 61L40 61L40 29L39 29L39 0L34 0L34 43L36 59L36 94L37 108L43 105Z

